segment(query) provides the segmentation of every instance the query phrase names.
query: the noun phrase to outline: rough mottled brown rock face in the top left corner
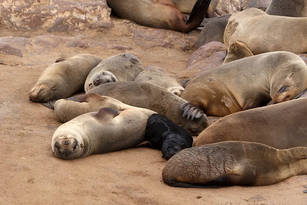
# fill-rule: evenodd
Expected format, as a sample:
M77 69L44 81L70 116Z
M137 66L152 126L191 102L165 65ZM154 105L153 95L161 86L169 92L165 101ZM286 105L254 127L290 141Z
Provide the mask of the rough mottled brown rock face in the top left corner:
M1 24L49 32L113 27L106 0L2 0Z

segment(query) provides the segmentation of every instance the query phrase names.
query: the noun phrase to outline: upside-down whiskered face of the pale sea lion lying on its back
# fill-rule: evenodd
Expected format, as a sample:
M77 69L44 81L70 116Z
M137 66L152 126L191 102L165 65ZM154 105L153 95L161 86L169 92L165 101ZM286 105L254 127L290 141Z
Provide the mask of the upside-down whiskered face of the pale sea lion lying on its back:
M52 151L61 159L78 158L84 150L84 143L80 135L71 130L62 130L52 138Z

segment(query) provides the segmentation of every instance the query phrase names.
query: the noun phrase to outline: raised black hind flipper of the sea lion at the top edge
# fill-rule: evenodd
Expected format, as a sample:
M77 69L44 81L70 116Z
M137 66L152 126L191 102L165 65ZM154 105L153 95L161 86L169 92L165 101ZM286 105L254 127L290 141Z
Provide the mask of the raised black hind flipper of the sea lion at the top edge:
M187 28L184 33L188 33L196 29L203 22L210 3L211 0L197 0L193 6L189 19L186 21Z

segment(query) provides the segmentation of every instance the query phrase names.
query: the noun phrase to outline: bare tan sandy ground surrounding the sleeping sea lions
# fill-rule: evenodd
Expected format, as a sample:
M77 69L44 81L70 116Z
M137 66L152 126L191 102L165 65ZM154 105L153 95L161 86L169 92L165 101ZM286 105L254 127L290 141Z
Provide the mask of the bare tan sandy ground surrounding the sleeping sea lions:
M126 21L125 21L126 22ZM136 26L138 27L138 26ZM198 35L199 31L193 31ZM2 28L1 36L32 37L43 31L17 32ZM155 64L171 75L183 71L193 50L137 45L123 20L105 31L52 33L85 35L133 49L144 66ZM103 58L122 53L102 48L46 49L16 57L0 53L0 204L306 204L307 175L264 187L220 189L173 188L162 181L166 160L158 150L136 148L77 160L62 160L51 150L60 126L53 110L28 100L39 75L55 59L81 53Z

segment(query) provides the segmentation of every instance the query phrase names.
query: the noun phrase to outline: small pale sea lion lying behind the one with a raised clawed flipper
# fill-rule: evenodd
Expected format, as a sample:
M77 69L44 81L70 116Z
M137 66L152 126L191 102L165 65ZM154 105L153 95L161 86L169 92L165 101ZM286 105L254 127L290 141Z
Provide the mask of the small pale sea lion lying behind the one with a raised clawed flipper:
M162 88L165 88L169 92L172 92L178 96L180 96L184 90L184 88L174 77L155 70L145 70L141 72L134 81L146 82L161 86Z

